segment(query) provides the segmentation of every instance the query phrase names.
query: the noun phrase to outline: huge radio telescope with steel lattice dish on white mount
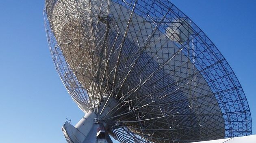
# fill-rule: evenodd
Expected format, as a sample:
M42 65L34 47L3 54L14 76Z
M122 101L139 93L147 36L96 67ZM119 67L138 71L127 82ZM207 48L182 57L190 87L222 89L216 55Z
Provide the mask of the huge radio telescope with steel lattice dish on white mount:
M68 143L183 143L251 135L243 89L168 0L46 0L52 58L85 116Z

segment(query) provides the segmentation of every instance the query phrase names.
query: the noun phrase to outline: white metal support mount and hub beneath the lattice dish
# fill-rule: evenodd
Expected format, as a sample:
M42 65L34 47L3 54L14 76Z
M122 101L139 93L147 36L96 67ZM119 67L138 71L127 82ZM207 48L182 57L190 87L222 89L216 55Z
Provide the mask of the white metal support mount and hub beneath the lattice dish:
M108 99L108 102L106 100ZM112 97L105 97L98 104L101 114L96 111L88 111L85 116L73 126L65 122L62 131L68 143L113 143L108 135L108 124L101 117L115 116L115 105L118 101ZM115 106L115 107L114 107Z

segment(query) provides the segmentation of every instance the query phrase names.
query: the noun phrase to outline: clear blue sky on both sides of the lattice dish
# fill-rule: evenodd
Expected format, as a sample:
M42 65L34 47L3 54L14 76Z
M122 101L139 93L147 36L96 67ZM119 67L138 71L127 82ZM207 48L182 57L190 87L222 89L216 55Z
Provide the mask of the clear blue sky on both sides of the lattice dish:
M256 0L171 0L215 43L238 77L256 134ZM0 0L0 142L65 143L83 116L55 71L43 0Z

